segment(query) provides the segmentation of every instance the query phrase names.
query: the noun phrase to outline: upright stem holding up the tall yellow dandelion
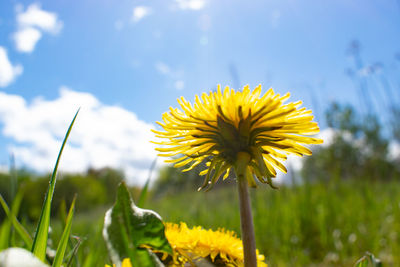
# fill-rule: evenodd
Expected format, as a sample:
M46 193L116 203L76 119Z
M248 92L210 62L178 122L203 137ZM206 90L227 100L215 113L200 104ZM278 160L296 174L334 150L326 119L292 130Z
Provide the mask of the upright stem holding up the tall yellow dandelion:
M248 153L239 152L235 172L238 180L244 266L257 267L256 240L254 235L253 216L251 214L250 195L246 179L247 164L249 161L250 155Z

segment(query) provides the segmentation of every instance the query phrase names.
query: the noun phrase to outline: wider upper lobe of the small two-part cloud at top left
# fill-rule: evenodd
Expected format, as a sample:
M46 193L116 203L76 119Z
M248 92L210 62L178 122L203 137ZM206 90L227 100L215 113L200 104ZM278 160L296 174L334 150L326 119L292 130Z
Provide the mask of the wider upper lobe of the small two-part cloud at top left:
M57 14L44 11L39 4L31 4L25 12L18 12L17 23L19 27L37 27L49 33L59 33L63 27Z

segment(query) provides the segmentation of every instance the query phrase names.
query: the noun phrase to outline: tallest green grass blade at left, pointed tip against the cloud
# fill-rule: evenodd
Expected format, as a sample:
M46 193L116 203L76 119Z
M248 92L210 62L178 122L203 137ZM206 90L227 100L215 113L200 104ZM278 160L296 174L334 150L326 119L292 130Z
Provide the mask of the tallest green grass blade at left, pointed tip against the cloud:
M46 258L46 248L47 248L47 238L49 234L49 226L50 226L50 212L51 212L51 202L53 199L54 188L56 186L56 176L58 164L60 163L61 154L64 150L65 144L67 143L67 139L69 134L71 133L72 126L74 125L75 119L78 116L79 109L75 113L75 116L68 127L68 131L65 134L64 141L61 145L60 152L57 156L56 165L54 166L53 174L51 175L49 187L47 189L46 196L44 198L42 211L40 213L38 226L36 228L35 238L33 239L32 245L32 253L39 258L41 261L45 261Z

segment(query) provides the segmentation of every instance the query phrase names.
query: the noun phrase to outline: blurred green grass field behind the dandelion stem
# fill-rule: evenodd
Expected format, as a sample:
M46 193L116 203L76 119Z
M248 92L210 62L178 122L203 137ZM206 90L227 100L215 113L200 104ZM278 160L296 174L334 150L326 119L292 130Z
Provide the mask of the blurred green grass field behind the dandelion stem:
M269 266L353 266L366 251L383 266L400 264L399 182L303 184L251 193L257 247ZM240 233L234 187L150 198L145 208L164 221ZM73 222L72 233L82 240L80 266L109 262L101 237L104 210L77 214Z

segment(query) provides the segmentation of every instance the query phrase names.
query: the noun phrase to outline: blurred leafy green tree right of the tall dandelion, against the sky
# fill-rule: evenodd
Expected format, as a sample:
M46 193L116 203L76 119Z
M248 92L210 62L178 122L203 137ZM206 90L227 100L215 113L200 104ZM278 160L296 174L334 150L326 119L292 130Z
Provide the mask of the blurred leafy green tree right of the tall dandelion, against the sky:
M305 159L304 179L400 178L397 164L388 159L389 139L377 117L359 117L352 107L338 104L333 104L326 115L328 126L334 130L333 141L317 147L313 156Z

